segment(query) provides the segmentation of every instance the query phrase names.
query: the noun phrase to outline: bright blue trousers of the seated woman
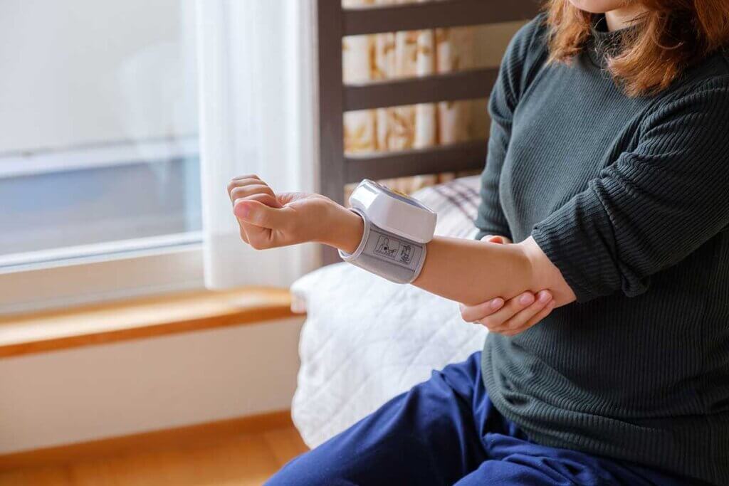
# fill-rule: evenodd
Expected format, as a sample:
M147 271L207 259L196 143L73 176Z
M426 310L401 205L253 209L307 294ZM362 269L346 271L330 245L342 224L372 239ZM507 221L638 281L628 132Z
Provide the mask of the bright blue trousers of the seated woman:
M267 484L693 484L636 464L532 442L488 399L480 356L433 372L428 381L286 464Z

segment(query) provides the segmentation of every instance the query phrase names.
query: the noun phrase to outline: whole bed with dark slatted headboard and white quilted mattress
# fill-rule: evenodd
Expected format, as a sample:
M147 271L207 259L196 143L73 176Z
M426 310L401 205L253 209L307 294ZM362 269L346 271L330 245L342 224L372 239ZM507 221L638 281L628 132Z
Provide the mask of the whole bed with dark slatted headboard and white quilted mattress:
M319 185L343 203L346 184L442 172L479 170L486 141L353 156L343 150L343 114L386 106L485 98L496 68L345 85L343 36L526 20L531 0L442 0L343 9L318 1ZM321 95L326 93L326 95ZM436 233L473 238L478 178L454 179L413 196L438 213ZM307 318L292 417L309 447L329 439L388 399L426 380L433 369L461 361L483 346L486 329L464 323L458 305L413 286L399 286L338 262L325 264L292 286L294 308Z

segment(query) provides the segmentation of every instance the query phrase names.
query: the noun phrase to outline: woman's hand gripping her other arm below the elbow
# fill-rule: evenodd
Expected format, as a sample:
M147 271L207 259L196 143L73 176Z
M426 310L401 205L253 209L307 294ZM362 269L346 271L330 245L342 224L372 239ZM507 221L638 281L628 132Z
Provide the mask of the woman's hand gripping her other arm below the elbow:
M511 243L503 236L485 236L482 241L506 245ZM526 331L554 309L553 295L548 290L533 294L524 292L507 302L496 297L478 305L461 304L461 318L466 322L486 326L490 332L513 336Z

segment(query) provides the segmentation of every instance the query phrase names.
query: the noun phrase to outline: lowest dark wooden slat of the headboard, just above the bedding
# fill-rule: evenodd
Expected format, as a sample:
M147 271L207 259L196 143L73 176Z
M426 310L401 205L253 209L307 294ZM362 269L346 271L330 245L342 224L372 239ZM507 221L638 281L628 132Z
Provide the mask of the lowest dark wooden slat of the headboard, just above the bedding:
M346 157L346 181L482 169L486 163L487 144L483 140L470 141L432 149Z

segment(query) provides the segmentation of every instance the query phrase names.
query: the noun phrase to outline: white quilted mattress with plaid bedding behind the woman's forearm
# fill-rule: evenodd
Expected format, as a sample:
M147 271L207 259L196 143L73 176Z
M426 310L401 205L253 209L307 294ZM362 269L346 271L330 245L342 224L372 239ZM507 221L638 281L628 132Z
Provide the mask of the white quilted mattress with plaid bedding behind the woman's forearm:
M477 177L454 179L413 196L438 213L436 234L473 238L478 186ZM295 310L307 313L292 417L309 447L464 360L486 337L456 302L346 263L303 276L292 294Z

